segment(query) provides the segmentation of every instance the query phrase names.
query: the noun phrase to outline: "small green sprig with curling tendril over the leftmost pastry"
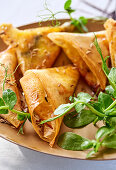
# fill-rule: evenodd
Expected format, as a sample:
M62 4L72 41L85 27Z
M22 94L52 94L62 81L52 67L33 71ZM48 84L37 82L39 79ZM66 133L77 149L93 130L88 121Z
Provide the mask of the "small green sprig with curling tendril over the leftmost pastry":
M19 133L23 134L23 126L26 120L29 119L29 121L31 121L30 113L25 113L14 109L14 106L16 105L17 102L16 93L11 89L5 89L6 80L11 75L8 74L8 67L5 67L4 64L2 63L0 64L0 66L3 67L5 70L5 77L3 80L3 93L2 97L0 97L0 114L8 114L9 111L16 113L17 119L20 121L24 121L19 130Z

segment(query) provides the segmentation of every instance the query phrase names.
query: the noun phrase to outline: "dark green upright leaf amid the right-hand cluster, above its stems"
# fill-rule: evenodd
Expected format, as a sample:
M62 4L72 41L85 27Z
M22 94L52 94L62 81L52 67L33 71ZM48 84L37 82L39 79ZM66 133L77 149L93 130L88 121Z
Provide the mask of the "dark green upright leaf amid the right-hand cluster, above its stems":
M106 109L113 103L113 100L109 94L100 92L100 94L98 95L98 102L101 104L102 109Z

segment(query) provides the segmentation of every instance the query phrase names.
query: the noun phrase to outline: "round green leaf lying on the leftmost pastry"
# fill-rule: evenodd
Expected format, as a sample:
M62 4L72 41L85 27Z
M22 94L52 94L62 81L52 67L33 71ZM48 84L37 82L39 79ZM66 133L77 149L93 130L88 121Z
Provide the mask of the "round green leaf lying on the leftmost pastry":
M15 92L12 91L11 89L7 89L7 90L3 91L2 97L3 97L5 104L7 106L9 106L10 110L12 110L17 102L17 96L16 96Z

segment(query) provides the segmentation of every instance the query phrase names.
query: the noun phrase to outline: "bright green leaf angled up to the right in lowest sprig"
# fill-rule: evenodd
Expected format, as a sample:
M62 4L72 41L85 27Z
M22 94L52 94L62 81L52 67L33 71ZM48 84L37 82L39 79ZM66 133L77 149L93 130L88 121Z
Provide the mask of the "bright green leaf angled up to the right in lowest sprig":
M97 131L97 133L95 135L95 138L97 140L99 140L99 139L101 139L103 137L106 137L107 135L112 134L114 131L115 131L114 127L103 126L103 127L98 129L98 131Z

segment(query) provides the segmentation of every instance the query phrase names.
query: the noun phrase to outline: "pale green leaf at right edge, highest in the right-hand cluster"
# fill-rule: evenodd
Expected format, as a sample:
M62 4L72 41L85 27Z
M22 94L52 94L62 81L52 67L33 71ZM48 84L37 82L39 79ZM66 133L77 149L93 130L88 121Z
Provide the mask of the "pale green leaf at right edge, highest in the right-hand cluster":
M108 79L115 84L116 86L116 68L112 67L109 74L108 74Z

